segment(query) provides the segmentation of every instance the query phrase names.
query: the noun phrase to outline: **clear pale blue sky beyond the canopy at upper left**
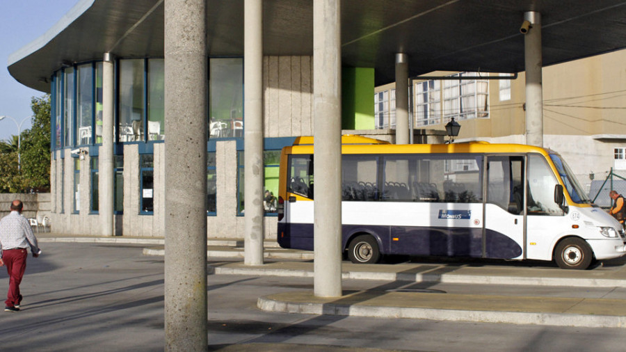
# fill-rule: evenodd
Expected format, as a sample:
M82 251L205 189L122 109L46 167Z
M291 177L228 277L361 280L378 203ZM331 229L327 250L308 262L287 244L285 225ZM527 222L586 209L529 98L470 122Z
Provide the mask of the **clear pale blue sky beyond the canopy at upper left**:
M31 98L45 93L23 86L8 72L8 57L46 33L79 0L0 0L0 141L31 127Z

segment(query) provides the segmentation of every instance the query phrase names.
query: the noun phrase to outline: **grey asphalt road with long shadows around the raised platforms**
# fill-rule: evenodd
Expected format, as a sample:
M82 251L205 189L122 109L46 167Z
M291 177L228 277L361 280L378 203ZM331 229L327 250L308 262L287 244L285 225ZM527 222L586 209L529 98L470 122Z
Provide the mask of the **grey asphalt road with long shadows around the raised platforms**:
M141 246L42 243L29 257L22 312L0 313L0 351L162 351L163 257ZM259 296L311 290L312 278L210 275L209 351L622 351L624 329L454 323L262 312ZM0 294L8 288L0 269ZM605 296L624 289L422 285L344 280L344 289Z

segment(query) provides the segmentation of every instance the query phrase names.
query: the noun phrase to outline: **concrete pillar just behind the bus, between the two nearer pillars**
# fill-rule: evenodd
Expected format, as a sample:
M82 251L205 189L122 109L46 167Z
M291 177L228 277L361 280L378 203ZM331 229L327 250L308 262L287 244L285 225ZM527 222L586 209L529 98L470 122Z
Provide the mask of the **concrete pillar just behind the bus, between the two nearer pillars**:
M263 1L246 0L243 11L243 139L247 265L263 264Z

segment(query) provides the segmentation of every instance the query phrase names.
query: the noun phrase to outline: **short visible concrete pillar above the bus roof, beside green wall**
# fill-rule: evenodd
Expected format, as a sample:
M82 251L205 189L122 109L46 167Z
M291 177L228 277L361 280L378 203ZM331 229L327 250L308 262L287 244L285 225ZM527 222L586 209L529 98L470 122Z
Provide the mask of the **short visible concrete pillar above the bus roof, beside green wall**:
M396 54L396 144L408 144L408 55Z

